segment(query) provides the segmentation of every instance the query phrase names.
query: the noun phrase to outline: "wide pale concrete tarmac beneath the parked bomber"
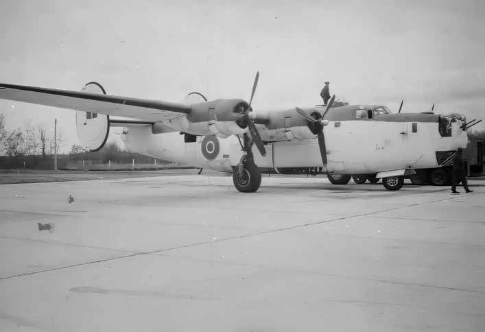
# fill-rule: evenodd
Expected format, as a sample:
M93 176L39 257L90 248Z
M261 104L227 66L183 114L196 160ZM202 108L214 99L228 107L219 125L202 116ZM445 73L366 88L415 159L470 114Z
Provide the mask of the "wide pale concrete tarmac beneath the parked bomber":
M2 185L0 331L485 331L485 182L469 182Z

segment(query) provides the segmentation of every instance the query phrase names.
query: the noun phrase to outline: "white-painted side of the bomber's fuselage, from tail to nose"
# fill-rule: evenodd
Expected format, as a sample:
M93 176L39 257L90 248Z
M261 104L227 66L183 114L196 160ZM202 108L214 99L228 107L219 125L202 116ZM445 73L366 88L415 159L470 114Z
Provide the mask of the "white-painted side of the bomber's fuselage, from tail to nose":
M441 137L437 122L418 122L412 132L411 122L389 121L331 121L324 127L327 145L327 171L336 174L371 174L405 168L438 167L436 151L466 148L466 131L452 124L452 136ZM259 126L258 126L259 127ZM260 132L263 132L259 127ZM284 130L284 129L282 129ZM264 139L264 134L261 136ZM278 136L278 135L276 135ZM179 165L209 167L217 171L232 171L244 154L237 137L217 138L219 153L209 161L202 154L201 137L185 143L178 132L152 134L150 126L130 128L123 135L128 150L139 152ZM261 156L253 147L255 163L259 167L322 167L317 139L276 141L265 145L267 154ZM211 152L213 145L206 149Z

